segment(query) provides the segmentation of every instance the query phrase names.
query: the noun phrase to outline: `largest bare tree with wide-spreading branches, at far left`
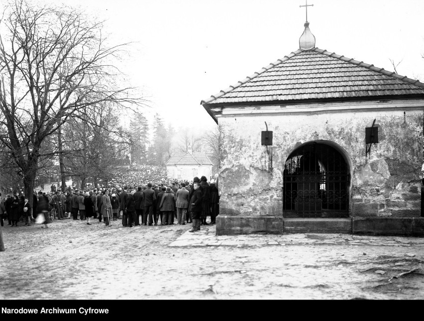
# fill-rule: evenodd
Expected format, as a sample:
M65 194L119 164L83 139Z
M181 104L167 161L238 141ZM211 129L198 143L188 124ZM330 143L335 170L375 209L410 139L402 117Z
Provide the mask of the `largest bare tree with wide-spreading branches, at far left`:
M113 84L118 71L110 60L123 45L106 46L102 22L74 8L16 0L3 12L0 31L0 124L6 133L0 139L32 202L47 137L85 107L142 101L130 96L131 88Z

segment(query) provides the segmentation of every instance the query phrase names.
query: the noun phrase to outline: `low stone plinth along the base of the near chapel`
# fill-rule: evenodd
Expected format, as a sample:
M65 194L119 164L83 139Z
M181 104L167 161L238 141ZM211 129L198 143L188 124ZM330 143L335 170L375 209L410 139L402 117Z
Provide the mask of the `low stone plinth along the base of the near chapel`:
M284 218L268 215L216 217L216 235L260 233L424 236L424 217Z

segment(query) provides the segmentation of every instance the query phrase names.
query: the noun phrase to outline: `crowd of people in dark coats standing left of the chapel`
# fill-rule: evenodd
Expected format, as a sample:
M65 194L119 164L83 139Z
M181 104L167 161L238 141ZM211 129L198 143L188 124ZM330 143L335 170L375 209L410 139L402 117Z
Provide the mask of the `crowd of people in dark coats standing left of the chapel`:
M58 220L85 220L92 225L92 218L104 221L111 226L111 220L121 220L123 226L171 225L192 223L191 232L200 230L202 224L211 217L211 224L219 214L218 175L208 183L205 176L194 177L192 182L169 181L152 184L115 185L115 188L93 188L78 190L71 187L63 192L54 185L51 192L34 193L32 207L23 195L0 193L0 223L7 219L11 227L28 226L31 222L44 223L48 228L51 222L49 213L54 212ZM139 179L133 182L139 183ZM124 183L121 181L121 183ZM141 216L141 219L140 219ZM159 223L160 220L160 223Z

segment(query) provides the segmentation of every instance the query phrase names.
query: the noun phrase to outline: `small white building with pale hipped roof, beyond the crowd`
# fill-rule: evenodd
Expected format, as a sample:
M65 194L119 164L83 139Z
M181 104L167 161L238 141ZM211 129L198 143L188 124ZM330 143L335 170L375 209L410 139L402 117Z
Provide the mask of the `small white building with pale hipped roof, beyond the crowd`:
M168 178L193 180L195 176L212 177L212 162L205 153L173 153L165 163Z

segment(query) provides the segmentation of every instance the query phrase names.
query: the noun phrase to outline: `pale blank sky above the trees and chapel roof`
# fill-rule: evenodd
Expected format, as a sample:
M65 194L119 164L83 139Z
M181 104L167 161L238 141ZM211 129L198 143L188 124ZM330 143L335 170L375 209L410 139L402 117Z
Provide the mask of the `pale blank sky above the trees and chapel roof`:
M31 3L35 2L30 1ZM58 4L57 0L38 0ZM305 0L63 0L105 21L131 86L174 128L212 129L200 105L296 51ZM424 82L423 0L309 0L316 46Z

